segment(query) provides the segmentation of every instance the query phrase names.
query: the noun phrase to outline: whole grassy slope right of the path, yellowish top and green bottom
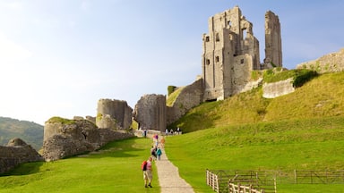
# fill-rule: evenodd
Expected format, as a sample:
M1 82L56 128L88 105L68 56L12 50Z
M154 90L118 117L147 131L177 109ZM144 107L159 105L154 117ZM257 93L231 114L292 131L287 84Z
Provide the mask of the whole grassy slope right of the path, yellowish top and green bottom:
M256 89L200 105L173 127L168 157L197 192L211 192L205 169L341 170L344 167L344 73L325 74L287 96ZM206 129L206 130L200 130ZM280 185L279 192L340 192L343 185Z

